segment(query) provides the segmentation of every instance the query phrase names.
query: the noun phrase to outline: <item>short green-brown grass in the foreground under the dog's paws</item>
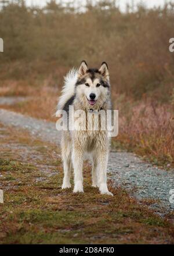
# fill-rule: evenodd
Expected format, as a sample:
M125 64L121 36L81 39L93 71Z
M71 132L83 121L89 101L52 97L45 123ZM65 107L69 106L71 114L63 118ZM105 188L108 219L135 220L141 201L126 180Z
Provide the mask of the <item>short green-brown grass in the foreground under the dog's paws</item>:
M91 187L88 165L85 194L62 191L59 149L26 131L0 128L5 196L5 204L0 205L1 244L174 242L172 223L148 210L150 201L139 205L126 191L112 187L114 197L100 195Z

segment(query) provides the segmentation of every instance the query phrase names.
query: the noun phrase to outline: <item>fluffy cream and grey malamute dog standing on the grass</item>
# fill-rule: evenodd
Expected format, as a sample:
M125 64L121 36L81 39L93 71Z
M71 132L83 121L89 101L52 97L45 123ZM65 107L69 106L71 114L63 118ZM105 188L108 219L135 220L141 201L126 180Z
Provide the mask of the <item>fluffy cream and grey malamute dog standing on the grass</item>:
M71 69L65 77L57 110L89 112L111 109L111 86L108 66L103 62L99 69L89 69L85 61L79 69ZM86 116L82 122L86 121ZM93 116L93 115L92 115ZM74 118L74 122L75 122ZM101 119L98 130L63 130L61 157L64 168L62 189L71 187L70 173L74 169L74 193L83 193L83 162L85 156L92 160L92 186L99 187L101 194L113 195L107 187L107 162L110 148L108 131L102 130Z

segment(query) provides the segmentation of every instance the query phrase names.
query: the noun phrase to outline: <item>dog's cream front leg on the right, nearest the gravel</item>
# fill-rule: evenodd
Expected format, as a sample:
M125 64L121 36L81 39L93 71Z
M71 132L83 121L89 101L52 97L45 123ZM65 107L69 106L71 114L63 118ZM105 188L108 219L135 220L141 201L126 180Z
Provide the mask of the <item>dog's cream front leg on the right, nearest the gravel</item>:
M108 151L101 150L97 158L98 186L101 194L113 195L107 188Z

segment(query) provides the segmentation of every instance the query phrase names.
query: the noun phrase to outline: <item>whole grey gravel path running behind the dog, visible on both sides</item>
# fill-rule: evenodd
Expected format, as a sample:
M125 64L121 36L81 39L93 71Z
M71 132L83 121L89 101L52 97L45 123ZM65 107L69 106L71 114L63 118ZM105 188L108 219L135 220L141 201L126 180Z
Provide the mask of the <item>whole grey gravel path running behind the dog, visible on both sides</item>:
M42 140L60 143L60 132L56 130L55 123L4 109L0 109L0 122L27 129ZM155 202L150 207L161 216L174 210L174 204L169 201L171 197L169 193L172 189L174 190L174 170L161 170L149 163L144 163L131 153L111 152L108 173L114 181L114 186L124 187L137 200L154 199Z

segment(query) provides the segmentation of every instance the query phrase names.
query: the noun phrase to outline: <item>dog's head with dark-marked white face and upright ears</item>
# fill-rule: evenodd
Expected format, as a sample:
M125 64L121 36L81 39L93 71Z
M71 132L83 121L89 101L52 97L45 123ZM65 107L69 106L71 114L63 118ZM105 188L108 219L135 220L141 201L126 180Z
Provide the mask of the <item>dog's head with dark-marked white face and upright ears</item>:
M88 69L85 61L82 61L78 69L76 83L76 95L78 100L86 108L101 108L108 99L110 92L109 72L106 62L100 69Z

